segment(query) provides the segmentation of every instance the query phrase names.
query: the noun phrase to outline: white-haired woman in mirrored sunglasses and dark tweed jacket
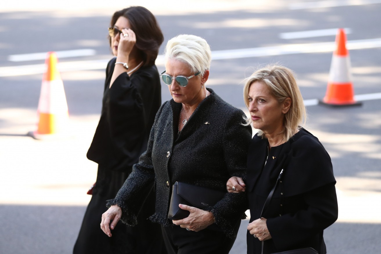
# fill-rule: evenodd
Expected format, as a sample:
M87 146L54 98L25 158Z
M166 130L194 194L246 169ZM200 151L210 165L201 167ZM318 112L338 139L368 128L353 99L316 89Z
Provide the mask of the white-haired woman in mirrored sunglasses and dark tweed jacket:
M119 220L135 225L147 192L155 189L155 213L150 220L162 225L168 253L229 253L245 217L245 193L227 193L226 181L245 177L250 126L242 125L242 110L205 87L211 51L195 35L168 41L165 68L160 75L172 95L158 110L148 148L133 166L103 215L101 228L108 236ZM175 182L224 192L203 209L179 204L189 211L184 219L168 219Z

